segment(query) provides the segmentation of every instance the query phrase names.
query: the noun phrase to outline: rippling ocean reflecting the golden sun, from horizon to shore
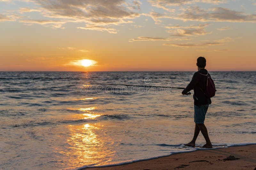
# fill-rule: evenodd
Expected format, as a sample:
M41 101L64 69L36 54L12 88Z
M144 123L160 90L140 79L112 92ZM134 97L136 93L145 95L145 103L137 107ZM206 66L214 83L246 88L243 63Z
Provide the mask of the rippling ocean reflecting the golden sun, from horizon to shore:
M0 72L0 168L79 169L151 159L194 133L194 72ZM256 72L210 72L205 125L214 148L256 141ZM193 90L191 91L193 94ZM204 145L200 133L196 146Z

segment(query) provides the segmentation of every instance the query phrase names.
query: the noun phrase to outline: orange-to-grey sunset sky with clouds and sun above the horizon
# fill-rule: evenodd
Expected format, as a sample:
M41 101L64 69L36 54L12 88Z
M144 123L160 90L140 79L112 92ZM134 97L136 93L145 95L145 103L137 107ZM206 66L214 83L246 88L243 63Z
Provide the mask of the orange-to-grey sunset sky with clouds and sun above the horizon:
M256 71L255 30L256 0L0 0L0 71Z

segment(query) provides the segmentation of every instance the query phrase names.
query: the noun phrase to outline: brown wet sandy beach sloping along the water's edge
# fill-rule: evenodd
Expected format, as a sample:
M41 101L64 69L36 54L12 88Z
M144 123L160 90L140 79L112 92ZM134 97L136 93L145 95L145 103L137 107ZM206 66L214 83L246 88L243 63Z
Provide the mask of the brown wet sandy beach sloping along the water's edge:
M235 160L224 160L234 156ZM231 158L232 159L232 158ZM166 157L144 160L119 166L86 168L105 169L256 169L256 145L234 146L229 148L198 150L178 153Z

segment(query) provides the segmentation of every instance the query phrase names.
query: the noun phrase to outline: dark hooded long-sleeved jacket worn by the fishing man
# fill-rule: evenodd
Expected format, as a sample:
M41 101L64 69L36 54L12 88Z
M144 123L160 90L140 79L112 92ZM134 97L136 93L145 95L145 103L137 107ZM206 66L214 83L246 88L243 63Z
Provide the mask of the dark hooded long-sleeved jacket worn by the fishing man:
M202 74L207 75L209 73L206 69L202 69L194 73L192 80L182 92L182 93L187 93L190 90L194 89L193 98L194 98L194 105L196 106L212 103L211 98L207 98L204 95L204 91L206 89L206 83L207 83L207 76ZM209 76L211 75L209 74Z

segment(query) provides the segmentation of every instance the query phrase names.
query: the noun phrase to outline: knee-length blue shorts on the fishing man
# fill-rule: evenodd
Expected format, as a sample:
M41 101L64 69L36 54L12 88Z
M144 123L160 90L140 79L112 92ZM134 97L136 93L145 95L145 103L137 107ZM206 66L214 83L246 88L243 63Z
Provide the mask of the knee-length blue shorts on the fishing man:
M203 124L206 112L208 110L209 104L202 104L199 106L194 105L194 122L196 124Z

